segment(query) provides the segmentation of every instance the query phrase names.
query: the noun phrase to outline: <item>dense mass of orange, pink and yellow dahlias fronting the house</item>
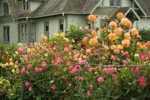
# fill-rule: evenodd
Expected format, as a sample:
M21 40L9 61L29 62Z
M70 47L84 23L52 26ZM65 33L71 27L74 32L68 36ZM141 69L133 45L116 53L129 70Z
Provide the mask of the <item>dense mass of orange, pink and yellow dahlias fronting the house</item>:
M150 98L150 43L140 42L138 30L122 13L117 17L108 29L77 28L87 33L78 42L55 33L50 39L42 35L33 46L19 43L15 57L0 64L11 68L9 98L122 99L142 96L139 90ZM96 18L88 17L92 24Z

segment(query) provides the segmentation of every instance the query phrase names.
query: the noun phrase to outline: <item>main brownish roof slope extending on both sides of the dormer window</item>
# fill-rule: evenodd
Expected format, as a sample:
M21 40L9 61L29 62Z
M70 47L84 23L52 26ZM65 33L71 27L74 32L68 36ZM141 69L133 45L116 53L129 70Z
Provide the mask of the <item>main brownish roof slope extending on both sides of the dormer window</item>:
M35 0L34 0L35 1ZM14 18L37 18L58 14L89 14L101 0L40 0L34 12L22 11L20 0L7 0Z

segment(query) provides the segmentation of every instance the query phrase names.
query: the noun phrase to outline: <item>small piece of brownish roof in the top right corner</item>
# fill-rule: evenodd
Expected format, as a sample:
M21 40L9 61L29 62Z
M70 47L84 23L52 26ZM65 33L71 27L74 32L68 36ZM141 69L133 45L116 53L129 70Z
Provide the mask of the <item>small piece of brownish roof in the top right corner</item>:
M140 7L144 10L147 17L150 17L150 0L135 0Z

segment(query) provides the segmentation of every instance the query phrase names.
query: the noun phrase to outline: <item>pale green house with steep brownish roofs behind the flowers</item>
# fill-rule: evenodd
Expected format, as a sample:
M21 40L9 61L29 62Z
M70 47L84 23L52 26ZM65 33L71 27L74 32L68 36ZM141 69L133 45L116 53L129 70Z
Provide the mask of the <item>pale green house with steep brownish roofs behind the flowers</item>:
M38 42L42 34L64 32L72 24L90 25L90 13L98 15L99 28L123 12L134 27L148 29L149 9L150 0L0 0L0 42Z

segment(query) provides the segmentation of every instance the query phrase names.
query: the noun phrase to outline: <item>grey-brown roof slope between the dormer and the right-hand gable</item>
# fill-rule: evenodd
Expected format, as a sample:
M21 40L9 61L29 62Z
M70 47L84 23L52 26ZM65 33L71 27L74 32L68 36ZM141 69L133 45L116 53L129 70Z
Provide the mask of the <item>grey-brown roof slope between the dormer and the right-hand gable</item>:
M33 17L56 14L89 14L101 0L47 0Z

